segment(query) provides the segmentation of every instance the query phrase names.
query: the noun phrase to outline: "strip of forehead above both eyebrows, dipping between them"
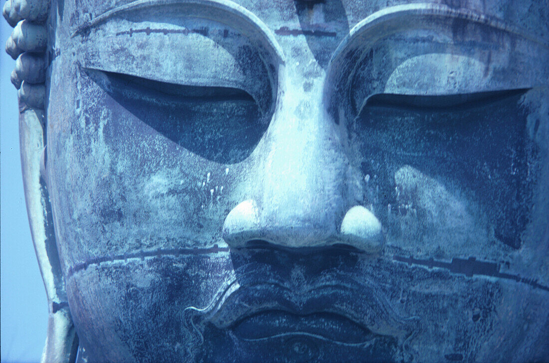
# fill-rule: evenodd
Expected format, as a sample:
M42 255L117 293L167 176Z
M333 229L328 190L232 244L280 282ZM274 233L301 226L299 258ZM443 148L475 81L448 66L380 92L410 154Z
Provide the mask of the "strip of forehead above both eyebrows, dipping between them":
M500 19L506 26L517 27L536 39L549 37L549 7L544 2L518 0L427 0L414 2L410 0L208 0L208 1L178 1L178 0L138 0L96 2L93 0L59 0L57 25L72 31L85 26L90 21L98 19L114 9L125 7L141 7L144 13L154 7L173 7L179 4L194 4L195 6L216 4L230 7L235 13L253 14L256 19L275 33L275 37L299 36L299 30L304 28L316 33L308 34L324 38L329 42L341 40L352 27L374 13L383 12L388 8L399 8L406 5L421 5L428 8L429 4L442 5L451 9L462 9L488 18ZM192 5L191 5L192 6ZM391 10L392 11L392 10ZM185 15L176 14L173 15ZM237 14L234 14L237 17ZM307 34L305 34L307 35Z

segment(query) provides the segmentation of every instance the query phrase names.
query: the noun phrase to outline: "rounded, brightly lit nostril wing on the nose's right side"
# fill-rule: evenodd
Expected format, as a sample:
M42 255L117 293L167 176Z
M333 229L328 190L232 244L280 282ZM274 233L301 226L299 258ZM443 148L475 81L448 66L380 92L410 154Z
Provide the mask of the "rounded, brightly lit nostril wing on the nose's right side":
M384 237L382 225L376 216L365 207L349 209L341 222L341 239L345 243L369 253L379 252Z

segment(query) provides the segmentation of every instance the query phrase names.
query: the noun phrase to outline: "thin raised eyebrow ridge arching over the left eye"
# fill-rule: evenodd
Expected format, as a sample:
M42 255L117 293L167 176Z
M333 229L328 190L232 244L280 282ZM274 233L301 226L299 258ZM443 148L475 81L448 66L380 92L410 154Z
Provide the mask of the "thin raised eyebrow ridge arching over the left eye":
M195 10L194 14L192 12L182 13L184 14L182 16L194 16L197 18L205 18L221 22L223 22L221 19L212 19L213 16L209 14L209 10L217 10L218 12L225 13L229 18L233 18L232 22L247 25L251 31L255 32L258 37L262 38L261 40L264 41L267 48L270 48L268 50L270 50L270 53L275 56L278 63L284 63L284 53L282 52L282 48L276 41L275 35L267 27L267 25L265 25L263 21L257 18L257 16L251 13L248 9L227 0L137 0L121 5L120 7L107 10L107 12L98 15L96 18L86 22L86 24L83 24L76 29L76 31L72 33L71 37L83 35L94 27L120 14L131 12L133 10L162 6L188 7L189 9Z

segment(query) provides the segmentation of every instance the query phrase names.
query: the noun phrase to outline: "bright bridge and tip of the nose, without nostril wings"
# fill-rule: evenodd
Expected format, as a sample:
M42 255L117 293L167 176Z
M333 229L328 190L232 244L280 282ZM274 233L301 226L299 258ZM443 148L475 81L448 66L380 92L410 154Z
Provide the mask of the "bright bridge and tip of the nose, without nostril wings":
M306 78L311 70L298 62L288 67L254 173L259 225L292 247L334 239L346 206L348 162L322 105L324 72L315 71Z

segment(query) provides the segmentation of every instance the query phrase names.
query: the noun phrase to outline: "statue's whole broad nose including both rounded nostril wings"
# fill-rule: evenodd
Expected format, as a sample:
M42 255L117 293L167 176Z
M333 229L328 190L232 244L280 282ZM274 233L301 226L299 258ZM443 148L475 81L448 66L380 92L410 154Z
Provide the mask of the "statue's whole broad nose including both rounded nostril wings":
M307 96L307 95L305 95ZM258 146L251 198L227 215L223 238L232 248L255 241L288 248L350 245L376 252L379 220L358 205L361 186L341 134L321 97L287 94Z

